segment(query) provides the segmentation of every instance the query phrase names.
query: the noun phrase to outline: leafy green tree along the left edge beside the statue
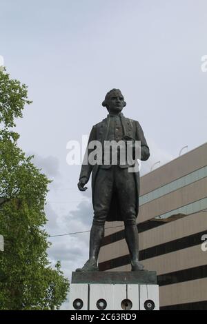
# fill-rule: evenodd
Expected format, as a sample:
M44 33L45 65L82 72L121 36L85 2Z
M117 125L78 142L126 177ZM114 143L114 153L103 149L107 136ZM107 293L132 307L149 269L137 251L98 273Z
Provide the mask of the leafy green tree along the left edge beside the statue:
M69 288L60 263L52 268L46 252L50 180L18 147L13 130L30 103L26 85L0 71L0 310L57 310Z

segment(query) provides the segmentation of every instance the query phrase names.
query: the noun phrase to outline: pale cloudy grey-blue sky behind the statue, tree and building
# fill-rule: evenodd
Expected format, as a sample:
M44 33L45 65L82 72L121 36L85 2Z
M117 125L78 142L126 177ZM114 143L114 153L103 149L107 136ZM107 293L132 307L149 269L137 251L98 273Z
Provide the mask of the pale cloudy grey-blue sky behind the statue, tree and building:
M17 121L19 146L52 179L51 236L90 230L90 185L78 191L81 166L66 163L66 146L106 117L108 90L121 89L124 115L146 135L141 174L206 142L206 30L205 0L0 0L0 56L33 101ZM88 259L88 239L50 238L50 260L69 279Z

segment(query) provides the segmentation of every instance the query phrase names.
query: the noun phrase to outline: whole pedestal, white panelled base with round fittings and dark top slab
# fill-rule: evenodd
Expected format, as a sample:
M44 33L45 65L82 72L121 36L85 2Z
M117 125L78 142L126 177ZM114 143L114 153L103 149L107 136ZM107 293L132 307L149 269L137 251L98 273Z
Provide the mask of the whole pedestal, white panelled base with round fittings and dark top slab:
M72 272L70 310L159 310L155 271Z

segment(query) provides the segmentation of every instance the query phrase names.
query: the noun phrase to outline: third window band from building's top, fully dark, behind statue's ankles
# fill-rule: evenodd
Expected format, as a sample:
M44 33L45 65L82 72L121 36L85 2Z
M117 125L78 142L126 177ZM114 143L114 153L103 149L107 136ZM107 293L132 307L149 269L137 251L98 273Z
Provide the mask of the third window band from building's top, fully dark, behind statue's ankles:
M170 252L184 250L188 247L199 245L202 243L201 236L206 234L206 232L204 230L202 232L198 232L192 235L182 237L181 239L162 243L159 245L155 245L153 247L148 247L148 249L139 251L139 259L140 261L142 261L142 260L153 258L155 256L160 256L160 255L168 254ZM130 264L129 254L124 256L119 256L115 259L111 259L99 263L99 270L106 271L106 270L113 269L115 267L121 267L123 265L128 265L128 264Z

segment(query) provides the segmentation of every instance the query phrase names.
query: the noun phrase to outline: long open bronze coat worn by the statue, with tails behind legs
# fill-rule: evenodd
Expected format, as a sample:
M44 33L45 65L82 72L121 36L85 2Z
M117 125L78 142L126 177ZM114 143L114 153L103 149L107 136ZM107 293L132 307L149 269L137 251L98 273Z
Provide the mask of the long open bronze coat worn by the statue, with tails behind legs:
M130 138L135 139L136 141L141 141L141 159L147 160L150 156L149 148L146 143L146 139L144 137L144 132L141 129L141 125L139 125L138 121L134 121L132 119L128 119L123 116L123 114L120 114L121 117L121 123L123 126L123 132L124 135L130 136ZM89 140L90 141L101 141L102 145L104 140L107 139L108 136L108 128L109 125L109 118L103 119L100 123L97 123L92 127L92 130L90 132ZM85 159L88 157L92 150L88 149L86 152L87 156L85 156ZM110 165L108 166L110 168ZM81 179L83 176L86 176L87 179L90 178L90 173L92 172L92 202L94 197L94 192L96 185L99 185L99 183L96 183L96 176L97 172L101 172L101 169L99 170L99 165L82 165L81 167L81 173L79 179ZM135 176L135 188L137 191L137 199L136 199L136 212L138 215L139 212L139 172L134 172ZM112 196L112 201L110 204L110 212L108 213L108 217L106 221L122 221L121 219L121 212L119 210L119 201L117 199L117 196L114 194Z

